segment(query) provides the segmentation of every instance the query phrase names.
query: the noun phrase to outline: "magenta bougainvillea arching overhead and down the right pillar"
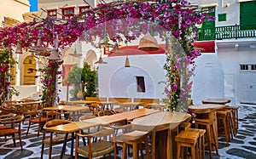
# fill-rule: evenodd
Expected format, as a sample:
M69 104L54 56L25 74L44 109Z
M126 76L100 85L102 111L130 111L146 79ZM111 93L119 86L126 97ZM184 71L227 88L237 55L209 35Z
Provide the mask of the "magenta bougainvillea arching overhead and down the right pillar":
M53 46L53 35L56 33L59 36L59 48L65 48L78 38L94 43L96 37L103 39L105 34L108 34L113 42L119 40L130 42L146 34L148 30L157 32L160 38L165 39L168 31L183 46L184 53L179 54L177 59L168 61L172 56L169 52L165 66L168 82L166 94L170 98L170 105L177 105L180 103L180 98L189 96L192 85L189 77L194 70L194 66L188 70L189 65L194 65L193 60L200 55L191 43L197 37L196 26L201 25L206 20L206 16L207 13L201 12L197 6L178 0L169 0L166 3L133 1L100 3L96 9L88 9L83 16L76 15L70 20L38 18L30 23L0 29L0 47L15 47L19 42L22 48L28 49L36 45L39 32L44 47ZM125 20L120 21L121 19ZM108 23L111 20L114 20L115 25L113 22ZM151 25L148 26L148 23ZM159 27L164 30L160 30ZM188 69L178 71L177 68L180 66Z

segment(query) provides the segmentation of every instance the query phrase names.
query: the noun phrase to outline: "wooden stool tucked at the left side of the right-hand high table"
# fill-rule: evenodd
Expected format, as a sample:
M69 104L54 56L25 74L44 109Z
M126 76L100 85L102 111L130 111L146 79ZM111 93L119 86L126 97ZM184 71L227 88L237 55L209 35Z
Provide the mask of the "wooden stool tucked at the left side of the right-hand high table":
M218 155L218 148L217 148L217 142L218 142L218 136L215 133L215 130L213 128L213 121L210 118L193 118L195 121L195 128L199 128L199 126L205 126L207 128L207 137L208 142L206 145L209 145L209 151L210 151L210 158L212 159L212 144L215 146L216 154ZM212 143L213 139L213 143ZM206 146L205 145L205 146Z

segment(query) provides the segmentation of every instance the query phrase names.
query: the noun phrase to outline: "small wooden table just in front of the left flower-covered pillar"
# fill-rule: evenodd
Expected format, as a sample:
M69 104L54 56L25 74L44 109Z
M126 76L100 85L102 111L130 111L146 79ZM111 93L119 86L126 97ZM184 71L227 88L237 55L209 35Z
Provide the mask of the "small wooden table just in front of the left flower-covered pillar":
M78 122L79 118L76 116L76 111L89 110L87 106L77 106L77 105L57 105L55 107L46 107L44 111L72 111L73 112L73 121Z

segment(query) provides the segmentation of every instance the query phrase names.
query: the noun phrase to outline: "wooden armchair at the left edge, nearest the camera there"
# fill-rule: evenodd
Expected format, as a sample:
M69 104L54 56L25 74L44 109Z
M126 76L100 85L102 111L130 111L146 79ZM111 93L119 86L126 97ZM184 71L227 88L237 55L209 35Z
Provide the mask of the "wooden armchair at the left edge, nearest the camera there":
M6 116L0 120L0 125L3 125L5 128L0 129L0 137L4 137L3 141L7 139L13 139L14 145L16 146L15 139L17 138L15 134L18 134L20 140L20 148L22 148L21 141L21 122L24 120L24 116ZM6 128L8 126L9 128ZM18 126L15 127L15 126ZM10 137L9 137L10 136Z

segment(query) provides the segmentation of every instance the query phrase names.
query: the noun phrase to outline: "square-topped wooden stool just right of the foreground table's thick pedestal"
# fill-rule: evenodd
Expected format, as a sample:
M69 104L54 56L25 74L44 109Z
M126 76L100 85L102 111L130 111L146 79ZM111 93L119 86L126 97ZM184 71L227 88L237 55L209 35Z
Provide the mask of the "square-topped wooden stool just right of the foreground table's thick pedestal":
M192 159L195 159L197 154L196 152L198 138L199 132L187 130L178 133L177 136L175 137L175 141L177 142L177 159L179 159L180 156L183 159L183 147L190 147Z

